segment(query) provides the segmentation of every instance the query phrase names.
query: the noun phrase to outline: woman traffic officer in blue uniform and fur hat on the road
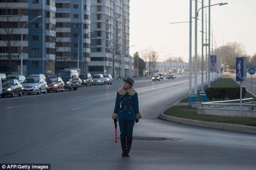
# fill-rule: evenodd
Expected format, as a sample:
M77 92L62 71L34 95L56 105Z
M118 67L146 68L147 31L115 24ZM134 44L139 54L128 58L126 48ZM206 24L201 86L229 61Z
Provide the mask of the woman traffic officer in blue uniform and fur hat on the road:
M134 79L124 77L124 85L119 88L115 99L114 113L112 119L119 123L120 141L122 147L122 156L129 157L132 146L132 132L134 121L137 123L141 118L139 113L138 94L133 88Z

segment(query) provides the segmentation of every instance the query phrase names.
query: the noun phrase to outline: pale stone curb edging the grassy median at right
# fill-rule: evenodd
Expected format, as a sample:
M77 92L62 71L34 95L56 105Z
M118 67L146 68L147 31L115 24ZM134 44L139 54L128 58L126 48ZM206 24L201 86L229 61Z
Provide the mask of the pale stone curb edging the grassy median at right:
M162 120L171 121L174 123L185 124L185 125L193 125L193 126L200 126L200 127L256 134L256 127L254 127L254 126L234 125L234 124L228 124L228 123L218 123L218 122L210 122L210 121L199 121L199 120L193 120L193 119L185 119L185 118L180 118L180 117L168 116L168 115L165 115L164 113L160 113L159 118Z

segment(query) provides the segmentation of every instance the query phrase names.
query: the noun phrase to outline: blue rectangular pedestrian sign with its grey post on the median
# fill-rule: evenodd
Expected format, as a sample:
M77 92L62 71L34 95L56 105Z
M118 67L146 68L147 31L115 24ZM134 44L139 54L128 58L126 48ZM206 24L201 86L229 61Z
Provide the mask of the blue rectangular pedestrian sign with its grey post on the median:
M246 57L236 58L236 81L240 81L240 117L242 116L242 81L246 81Z

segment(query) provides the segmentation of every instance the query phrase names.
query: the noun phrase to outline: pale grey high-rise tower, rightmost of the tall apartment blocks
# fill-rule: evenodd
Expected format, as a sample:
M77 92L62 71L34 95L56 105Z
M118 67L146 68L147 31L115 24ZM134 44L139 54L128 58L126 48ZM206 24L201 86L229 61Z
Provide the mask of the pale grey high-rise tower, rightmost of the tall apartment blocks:
M91 30L89 72L131 75L129 0L91 0Z

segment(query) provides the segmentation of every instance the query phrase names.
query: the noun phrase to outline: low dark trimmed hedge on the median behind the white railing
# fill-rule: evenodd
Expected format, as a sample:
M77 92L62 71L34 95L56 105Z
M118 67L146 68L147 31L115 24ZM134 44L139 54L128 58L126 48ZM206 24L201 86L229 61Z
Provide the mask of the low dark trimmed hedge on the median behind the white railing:
M242 87L242 98L245 97L246 89ZM212 101L215 100L224 100L229 98L229 100L240 99L240 87L209 87L205 90L206 97Z

